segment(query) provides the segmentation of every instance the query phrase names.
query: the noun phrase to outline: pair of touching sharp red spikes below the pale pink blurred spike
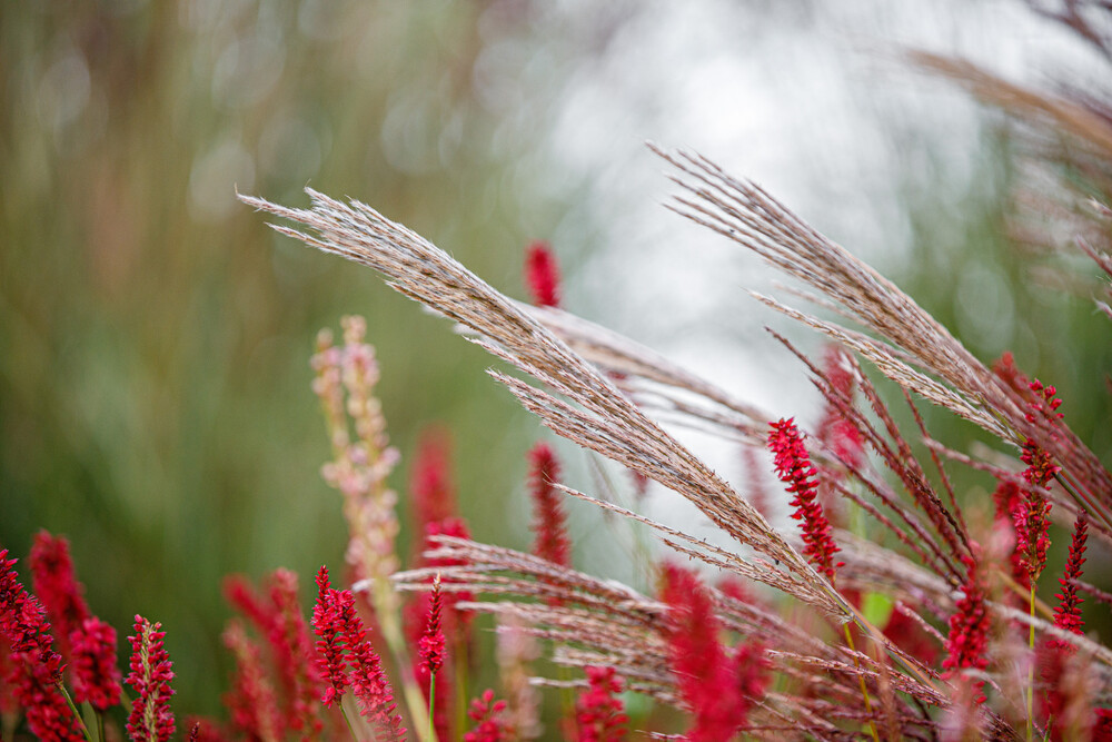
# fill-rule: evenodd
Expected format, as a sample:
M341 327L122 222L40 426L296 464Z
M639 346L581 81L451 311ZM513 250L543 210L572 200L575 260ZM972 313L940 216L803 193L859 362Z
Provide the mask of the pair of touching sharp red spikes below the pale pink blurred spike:
M367 641L363 620L355 611L355 596L350 590L330 587L328 570L324 566L317 574L317 587L312 627L320 636L317 649L322 655L322 674L329 683L321 700L330 706L350 685L359 703L359 713L375 724L384 735L380 739L403 740L405 729L401 716L396 713L394 692L381 660Z

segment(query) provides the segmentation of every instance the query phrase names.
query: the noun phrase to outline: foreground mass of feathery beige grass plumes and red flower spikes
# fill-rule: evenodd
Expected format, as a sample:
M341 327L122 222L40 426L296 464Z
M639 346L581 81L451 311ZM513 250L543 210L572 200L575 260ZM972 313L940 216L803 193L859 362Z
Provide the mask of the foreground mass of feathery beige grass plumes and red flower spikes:
M1056 18L1109 53L1102 27ZM1055 208L1036 199L1041 216L1020 217L1070 230L1104 284L1095 307L1112 319L1112 107L915 59L1014 115L1031 161L1062 176ZM406 514L388 484L399 454L376 396L389 363L366 323L347 317L339 338L318 336L311 362L331 443L322 475L349 527L345 563L316 574L311 617L291 572L260 585L230 578L228 719L178 719L161 625L136 616L122 677L115 632L87 605L64 540L42 533L31 590L0 551L3 739L1112 740L1112 650L1082 607L1112 604L1085 574L1112 544L1112 473L1070 428L1070 399L1023 358L979 358L758 185L696 152L651 149L676 187L669 209L796 283L792 299L754 298L827 340L812 357L776 335L824 400L816 425L739 402L575 316L544 244L528 251L526 304L358 200L308 189L309 207L292 208L242 196L279 233L367 266L454 323L555 436L631 473L634 505L605 477L598 492L573 488L555 447L538 442L534 548L481 543L459 513L449 438L436 432L416 456ZM935 438L925 406L991 445ZM662 412L741 445L753 466L768 462L791 522L767 514L767 486L732 485L662 426ZM956 486L959 467L991 481L992 496ZM722 538L638 513L648 483ZM647 588L576 568L568 498L667 547L646 550ZM418 542L408 554L404 517ZM494 676L496 687L476 682Z

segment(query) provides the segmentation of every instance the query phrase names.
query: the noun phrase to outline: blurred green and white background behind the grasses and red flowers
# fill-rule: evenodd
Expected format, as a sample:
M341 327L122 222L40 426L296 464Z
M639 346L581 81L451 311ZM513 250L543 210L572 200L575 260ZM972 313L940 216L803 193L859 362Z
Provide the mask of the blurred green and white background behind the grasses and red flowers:
M956 93L935 107L940 83L924 83L926 103L902 108L906 81L875 90L851 72L856 87L843 92L887 154L877 165L875 142L862 142L847 172L824 139L834 123L812 108L828 86L782 86L805 63L825 75L856 63L846 55L832 67L822 53L833 52L807 40L832 22L812 3L696 3L697 19L669 10L663 20L662 3L598 4L0 3L0 544L22 556L36 530L66 534L95 612L118 627L135 613L162 621L176 708L218 709L225 574L308 575L341 563L338 497L318 476L328 446L308 356L316 330L342 314L368 319L404 456L443 421L456 433L475 535L528 543L516 494L539 431L481 373L488 359L368 271L274 236L235 201L237 188L290 205L305 202L307 184L357 197L516 296L524 245L553 238L573 309L678 349L780 410L786 399L802 404L802 372L785 382L777 352L758 360L773 380L753 383L731 348L767 354L773 346L754 339L767 317L704 290L726 283L737 300L748 278L734 271L752 265L727 261L723 274L721 257L675 249L694 228L669 221L668 231L644 217L667 219L648 202L666 185L642 178L658 168L641 140L727 142L748 158L727 155L724 165L767 174L777 194L786 184L790 204L872 250L975 353L1013 348L1021 366L1056 383L1071 425L1108 453L1098 380L1109 368L1106 323L1084 290L1032 287L1030 264L1002 236L1021 176L1000 118L971 113ZM1000 3L972 20L961 4L913 12L931 14L936 38L980 39ZM852 36L840 24L885 38L884 14L864 14L837 19L837 49ZM717 36L691 32L703 28L696 21ZM668 50L679 61L662 61L637 42L645 38L687 46ZM731 77L719 59L711 65L719 78L681 63L708 49L745 60L751 77ZM615 79L636 90L618 119L635 133L618 145L604 136L605 118L583 115L604 105L599 81ZM723 118L669 107L671 83L709 85L696 92ZM792 96L805 123L756 137L753 101ZM941 112L916 116L924 106ZM952 128L924 135L940 123ZM653 271L666 281L652 283ZM691 271L704 283L683 286ZM985 321L985 286L999 321ZM687 344L695 335L702 345ZM932 423L940 437L973 435ZM395 475L403 493L407 465ZM597 518L578 527L583 541L600 528Z

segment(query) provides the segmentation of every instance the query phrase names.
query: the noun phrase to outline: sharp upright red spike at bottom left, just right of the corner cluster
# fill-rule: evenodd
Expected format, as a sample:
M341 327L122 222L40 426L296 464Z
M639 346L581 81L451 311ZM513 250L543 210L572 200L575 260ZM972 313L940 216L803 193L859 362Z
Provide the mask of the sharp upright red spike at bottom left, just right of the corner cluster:
M162 624L152 624L137 615L135 636L128 637L131 672L127 683L136 692L128 716L128 735L135 742L166 742L173 735L173 714L170 713L173 671L162 646L166 632L161 629Z

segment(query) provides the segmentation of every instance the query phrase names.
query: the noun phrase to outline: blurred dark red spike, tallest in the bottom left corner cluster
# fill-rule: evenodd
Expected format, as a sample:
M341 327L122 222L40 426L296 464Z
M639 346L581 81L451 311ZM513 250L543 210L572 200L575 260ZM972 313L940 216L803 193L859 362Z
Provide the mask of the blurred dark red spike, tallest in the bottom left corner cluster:
M57 630L58 652L66 662L70 659L69 636L90 616L89 606L73 571L69 542L46 531L34 534L31 554L31 588L47 610L47 616Z

